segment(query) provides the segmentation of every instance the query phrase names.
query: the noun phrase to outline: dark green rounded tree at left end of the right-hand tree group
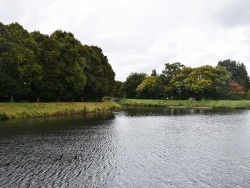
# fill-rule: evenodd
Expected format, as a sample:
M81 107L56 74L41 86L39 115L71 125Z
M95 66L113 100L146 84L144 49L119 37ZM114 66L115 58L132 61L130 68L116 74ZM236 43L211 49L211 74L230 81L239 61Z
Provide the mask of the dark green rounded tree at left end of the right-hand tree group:
M145 73L131 73L126 81L122 85L122 93L125 98L137 98L137 87L140 83L146 78L147 74Z

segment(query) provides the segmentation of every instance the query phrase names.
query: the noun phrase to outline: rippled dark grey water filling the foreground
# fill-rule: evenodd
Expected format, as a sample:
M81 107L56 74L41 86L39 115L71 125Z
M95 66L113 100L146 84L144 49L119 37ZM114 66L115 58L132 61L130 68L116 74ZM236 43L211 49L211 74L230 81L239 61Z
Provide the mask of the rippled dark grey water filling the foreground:
M250 187L250 111L0 122L0 187Z

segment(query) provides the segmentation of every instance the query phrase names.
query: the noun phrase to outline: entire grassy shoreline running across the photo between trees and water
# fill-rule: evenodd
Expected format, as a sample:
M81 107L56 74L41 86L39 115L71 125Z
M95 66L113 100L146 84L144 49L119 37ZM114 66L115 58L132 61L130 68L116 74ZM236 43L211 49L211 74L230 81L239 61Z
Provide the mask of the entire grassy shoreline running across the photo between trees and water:
M77 114L97 113L131 107L165 107L196 109L250 109L250 100L149 100L120 99L102 102L54 102L54 103L0 103L0 121L50 116L72 116Z

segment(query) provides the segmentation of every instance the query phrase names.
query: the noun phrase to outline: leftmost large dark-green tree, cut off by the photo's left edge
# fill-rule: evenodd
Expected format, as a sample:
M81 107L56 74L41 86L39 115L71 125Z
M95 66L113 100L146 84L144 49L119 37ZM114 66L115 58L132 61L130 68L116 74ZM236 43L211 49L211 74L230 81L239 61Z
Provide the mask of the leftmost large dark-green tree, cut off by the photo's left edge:
M1 89L10 96L28 95L30 85L41 79L42 71L37 63L37 44L18 23L1 24Z

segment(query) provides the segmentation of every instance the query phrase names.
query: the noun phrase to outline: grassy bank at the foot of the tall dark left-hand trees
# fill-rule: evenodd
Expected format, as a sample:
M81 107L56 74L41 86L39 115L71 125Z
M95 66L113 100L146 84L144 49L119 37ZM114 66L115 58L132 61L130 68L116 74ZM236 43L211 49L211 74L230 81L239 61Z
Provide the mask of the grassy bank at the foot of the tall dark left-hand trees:
M94 113L120 108L113 101L68 103L0 103L0 120Z

